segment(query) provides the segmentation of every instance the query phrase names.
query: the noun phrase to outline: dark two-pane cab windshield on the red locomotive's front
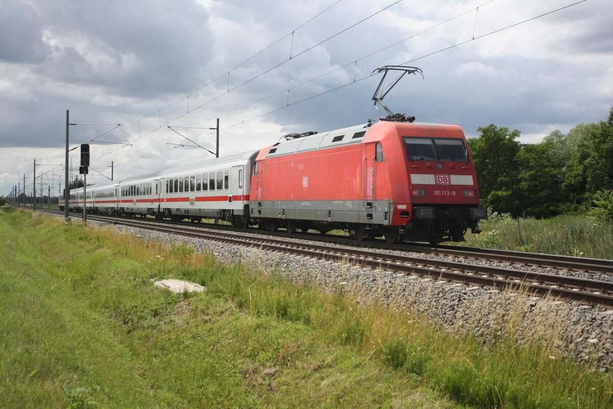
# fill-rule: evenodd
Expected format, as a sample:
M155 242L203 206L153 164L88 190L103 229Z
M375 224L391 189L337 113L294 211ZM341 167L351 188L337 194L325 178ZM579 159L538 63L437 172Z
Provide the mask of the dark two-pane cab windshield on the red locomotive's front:
M402 139L406 156L411 161L468 162L466 146L462 139L409 136Z

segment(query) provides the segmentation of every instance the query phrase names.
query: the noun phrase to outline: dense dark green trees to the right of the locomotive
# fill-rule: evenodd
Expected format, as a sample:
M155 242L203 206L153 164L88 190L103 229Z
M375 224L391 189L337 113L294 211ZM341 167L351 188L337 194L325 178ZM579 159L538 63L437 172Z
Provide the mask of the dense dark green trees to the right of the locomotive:
M494 124L468 139L481 205L512 216L586 212L613 189L613 108L606 121L555 130L539 143Z

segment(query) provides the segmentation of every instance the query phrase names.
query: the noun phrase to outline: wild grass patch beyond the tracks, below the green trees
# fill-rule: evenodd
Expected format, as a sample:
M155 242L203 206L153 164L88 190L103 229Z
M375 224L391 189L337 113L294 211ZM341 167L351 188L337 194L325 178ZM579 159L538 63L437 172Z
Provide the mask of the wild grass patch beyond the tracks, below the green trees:
M481 234L466 234L465 245L533 253L613 259L613 226L588 216L562 215L549 219L513 219L490 215L481 221Z

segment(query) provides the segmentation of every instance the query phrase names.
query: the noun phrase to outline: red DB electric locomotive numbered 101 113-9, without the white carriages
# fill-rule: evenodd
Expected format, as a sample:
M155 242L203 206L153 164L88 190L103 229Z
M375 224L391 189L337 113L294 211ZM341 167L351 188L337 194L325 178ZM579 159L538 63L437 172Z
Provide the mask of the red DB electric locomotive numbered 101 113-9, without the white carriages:
M379 121L292 134L257 155L251 218L271 230L347 229L438 243L479 232L479 193L462 129Z

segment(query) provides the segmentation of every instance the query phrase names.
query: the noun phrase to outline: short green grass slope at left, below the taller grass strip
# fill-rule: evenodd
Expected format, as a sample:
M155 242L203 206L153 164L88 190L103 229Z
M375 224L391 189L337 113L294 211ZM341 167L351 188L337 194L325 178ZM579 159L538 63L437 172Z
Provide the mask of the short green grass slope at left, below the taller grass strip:
M307 324L153 289L189 252L6 207L0 228L0 407L459 407Z

